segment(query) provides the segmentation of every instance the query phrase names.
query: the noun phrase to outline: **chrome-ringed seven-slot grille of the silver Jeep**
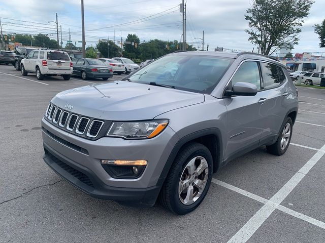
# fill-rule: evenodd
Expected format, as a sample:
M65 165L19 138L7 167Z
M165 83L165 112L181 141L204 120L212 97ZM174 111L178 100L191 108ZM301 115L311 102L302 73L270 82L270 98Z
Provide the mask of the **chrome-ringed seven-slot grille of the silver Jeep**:
M91 139L98 137L105 124L102 120L62 110L52 103L47 107L45 117L63 130Z

